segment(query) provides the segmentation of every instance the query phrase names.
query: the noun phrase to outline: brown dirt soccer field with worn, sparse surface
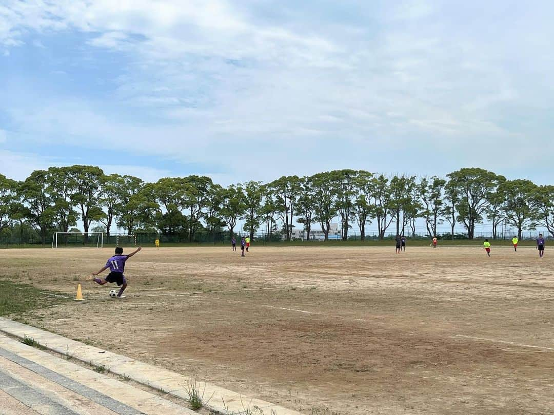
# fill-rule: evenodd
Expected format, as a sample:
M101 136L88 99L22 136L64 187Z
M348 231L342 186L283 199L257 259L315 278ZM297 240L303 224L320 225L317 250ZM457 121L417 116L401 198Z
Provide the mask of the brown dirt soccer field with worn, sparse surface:
M127 250L128 251L128 250ZM0 276L75 294L34 325L306 414L554 413L554 251L2 250Z

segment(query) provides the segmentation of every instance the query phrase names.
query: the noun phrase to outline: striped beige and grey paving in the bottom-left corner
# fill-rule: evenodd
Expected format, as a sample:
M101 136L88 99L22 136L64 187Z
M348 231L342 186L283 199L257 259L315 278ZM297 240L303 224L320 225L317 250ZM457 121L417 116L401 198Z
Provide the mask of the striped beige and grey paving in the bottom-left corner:
M134 388L129 383L71 364L61 357L18 344L15 340L4 338L3 341L0 346L2 415L142 415L192 412L184 406ZM10 347L5 347L7 344ZM60 369L63 369L59 372L64 374L46 367L55 369L57 361Z

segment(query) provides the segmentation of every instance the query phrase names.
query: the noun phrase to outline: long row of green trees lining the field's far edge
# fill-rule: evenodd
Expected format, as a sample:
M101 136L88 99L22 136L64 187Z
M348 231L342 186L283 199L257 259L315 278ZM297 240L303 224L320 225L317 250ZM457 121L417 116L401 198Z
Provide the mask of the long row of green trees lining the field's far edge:
M312 226L329 236L338 217L341 236L358 227L363 240L368 224L383 238L392 224L396 233L415 234L416 220L425 222L429 236L448 222L464 226L470 239L475 225L487 221L496 237L500 224L518 230L545 227L554 235L554 186L530 180L507 180L480 168L464 168L447 178L394 175L364 170L333 170L310 177L286 176L261 183L227 187L191 175L145 183L130 175L105 175L99 167L73 165L35 170L24 181L0 174L0 231L32 226L43 241L48 232L67 232L83 222L116 225L129 235L137 230L184 233L194 240L199 230L233 234L240 220L253 237L260 227L271 237L281 225L287 240L299 223L309 238Z

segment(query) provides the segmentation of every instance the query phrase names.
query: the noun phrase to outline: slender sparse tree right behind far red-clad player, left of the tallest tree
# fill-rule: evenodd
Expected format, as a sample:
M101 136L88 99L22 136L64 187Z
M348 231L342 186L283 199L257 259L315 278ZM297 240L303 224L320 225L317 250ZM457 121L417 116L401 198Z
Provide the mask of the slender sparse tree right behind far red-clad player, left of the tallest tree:
M447 181L436 176L422 178L418 184L418 191L422 201L421 216L425 220L427 234L437 235L437 226L443 224L442 212L445 209L443 190Z

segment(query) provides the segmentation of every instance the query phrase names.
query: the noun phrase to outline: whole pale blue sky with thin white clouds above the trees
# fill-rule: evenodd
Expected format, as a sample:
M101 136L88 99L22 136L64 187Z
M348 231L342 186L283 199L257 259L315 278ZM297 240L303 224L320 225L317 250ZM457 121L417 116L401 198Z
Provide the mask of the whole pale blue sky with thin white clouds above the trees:
M299 6L298 3L301 3ZM0 173L554 184L554 3L3 0Z

